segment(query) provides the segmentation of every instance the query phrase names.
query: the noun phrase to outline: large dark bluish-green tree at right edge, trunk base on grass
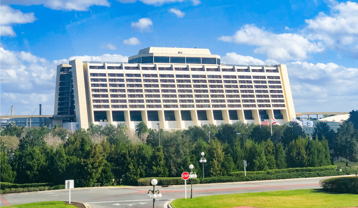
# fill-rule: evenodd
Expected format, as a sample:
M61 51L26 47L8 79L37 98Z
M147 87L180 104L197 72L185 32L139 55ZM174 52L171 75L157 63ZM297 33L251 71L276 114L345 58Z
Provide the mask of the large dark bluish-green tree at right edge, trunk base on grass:
M335 143L334 153L337 157L348 162L358 161L358 133L354 130L352 122L343 122L337 131L337 142Z

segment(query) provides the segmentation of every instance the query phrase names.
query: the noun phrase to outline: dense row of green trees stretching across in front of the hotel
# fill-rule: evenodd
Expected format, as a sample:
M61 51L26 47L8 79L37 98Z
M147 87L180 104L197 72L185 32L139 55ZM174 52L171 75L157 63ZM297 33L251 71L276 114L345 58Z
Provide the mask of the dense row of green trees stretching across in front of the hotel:
M138 137L125 125L92 124L71 133L59 126L20 128L9 123L1 135L20 139L16 149L1 141L1 181L63 184L74 179L76 187L135 185L142 177L179 177L189 171L189 164L203 177L201 152L207 159L205 177L243 171L243 160L247 171L325 166L338 157L358 161L358 111L350 112L337 132L325 122L317 123L312 137L295 122L272 126L272 135L269 126L242 122L172 131L147 129L141 122L136 131Z

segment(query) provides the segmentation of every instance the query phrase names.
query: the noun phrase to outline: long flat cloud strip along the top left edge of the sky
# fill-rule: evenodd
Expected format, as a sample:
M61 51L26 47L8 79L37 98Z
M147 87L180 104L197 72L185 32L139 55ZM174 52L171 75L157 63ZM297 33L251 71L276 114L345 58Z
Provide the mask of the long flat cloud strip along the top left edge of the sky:
M107 0L3 0L2 4L15 4L15 5L44 5L44 7L53 10L66 10L66 11L88 11L90 6L107 6L110 3Z

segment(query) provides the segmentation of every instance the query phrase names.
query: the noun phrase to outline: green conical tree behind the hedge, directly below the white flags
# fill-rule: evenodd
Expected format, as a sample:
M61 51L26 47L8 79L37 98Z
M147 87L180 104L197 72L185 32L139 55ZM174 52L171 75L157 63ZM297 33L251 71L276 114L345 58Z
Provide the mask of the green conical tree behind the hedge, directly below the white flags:
M290 142L287 148L286 161L289 168L301 168L307 166L306 154L307 140L298 137L296 140Z

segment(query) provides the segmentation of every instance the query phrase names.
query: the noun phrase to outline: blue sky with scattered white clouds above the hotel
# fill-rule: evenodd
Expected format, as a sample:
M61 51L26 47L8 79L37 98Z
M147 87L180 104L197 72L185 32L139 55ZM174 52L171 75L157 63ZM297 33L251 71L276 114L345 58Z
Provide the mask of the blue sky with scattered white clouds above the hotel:
M358 1L1 0L1 115L53 114L55 70L150 46L287 64L296 112L358 109ZM38 113L38 112L35 112Z

